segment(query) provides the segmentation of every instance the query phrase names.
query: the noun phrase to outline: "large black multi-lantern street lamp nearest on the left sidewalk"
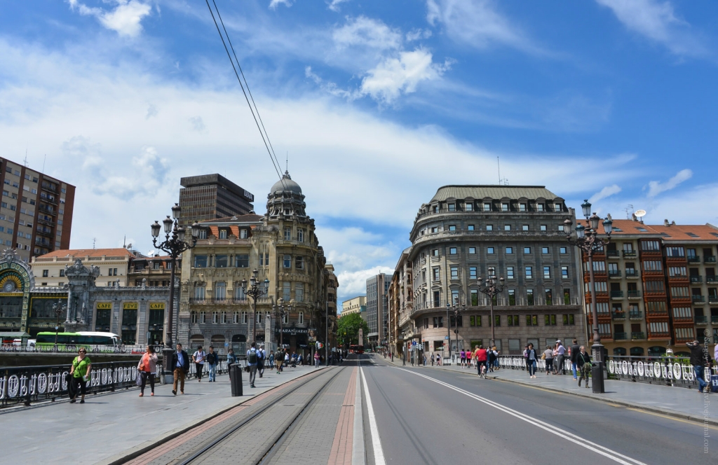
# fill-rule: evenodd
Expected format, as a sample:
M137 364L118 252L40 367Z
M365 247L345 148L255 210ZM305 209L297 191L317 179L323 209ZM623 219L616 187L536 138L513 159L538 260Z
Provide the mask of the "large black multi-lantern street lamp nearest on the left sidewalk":
M162 225L155 221L150 225L152 232L152 245L159 250L169 254L170 258L170 270L169 270L169 314L167 316L167 332L164 349L162 349L162 365L164 365L165 377L172 375L172 367L169 365L172 363L172 352L173 347L173 336L177 337L177 334L172 334L172 327L174 324L174 270L177 268L177 257L182 255L185 250L189 250L195 247L197 244L197 237L200 235L200 225L195 222L192 224L192 242L188 243L185 241L185 228L179 225L180 212L182 207L174 204L172 207L172 218L169 216L162 220ZM161 243L157 243L159 238L160 229L164 227L164 240ZM149 344L149 341L147 342Z

